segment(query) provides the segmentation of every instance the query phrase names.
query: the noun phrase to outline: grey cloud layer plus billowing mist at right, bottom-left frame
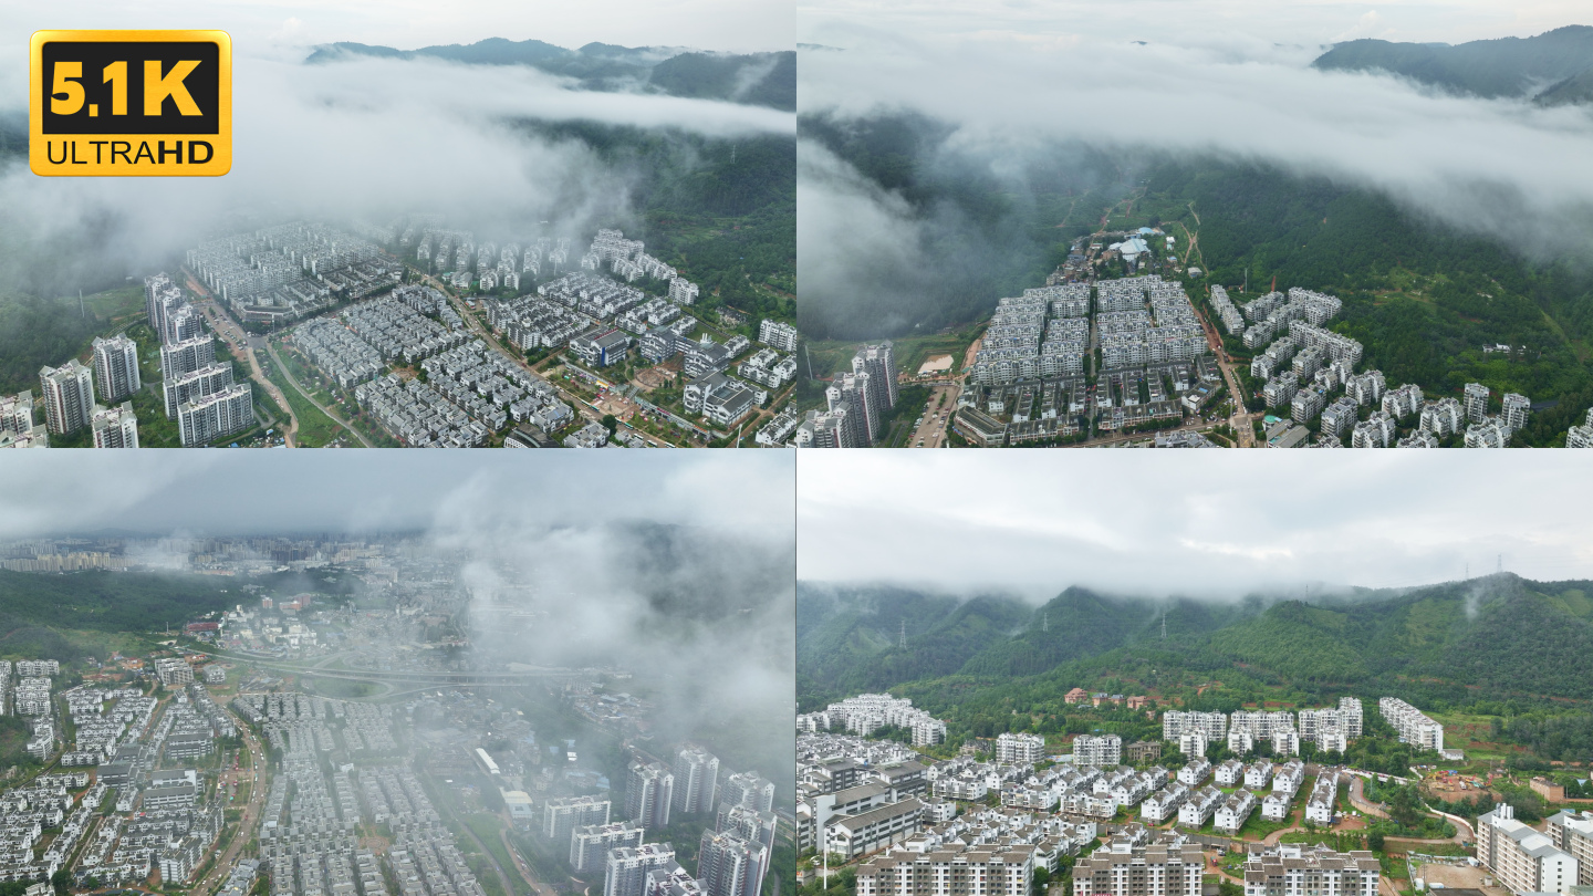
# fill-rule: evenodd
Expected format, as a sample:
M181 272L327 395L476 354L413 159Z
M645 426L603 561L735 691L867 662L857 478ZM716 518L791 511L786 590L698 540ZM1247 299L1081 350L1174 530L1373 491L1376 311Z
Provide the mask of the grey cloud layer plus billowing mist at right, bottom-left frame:
M25 451L0 539L398 532L460 558L472 660L610 666L666 740L715 733L792 786L792 453ZM183 558L186 560L186 558ZM529 611L510 620L494 607ZM746 770L738 768L738 770Z

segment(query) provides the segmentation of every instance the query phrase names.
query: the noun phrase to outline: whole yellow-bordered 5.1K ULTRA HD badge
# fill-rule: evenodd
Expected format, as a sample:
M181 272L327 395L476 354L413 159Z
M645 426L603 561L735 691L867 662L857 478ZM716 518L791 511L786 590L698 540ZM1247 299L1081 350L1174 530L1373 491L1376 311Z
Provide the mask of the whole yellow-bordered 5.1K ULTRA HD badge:
M215 177L233 167L226 32L35 32L30 88L33 174Z

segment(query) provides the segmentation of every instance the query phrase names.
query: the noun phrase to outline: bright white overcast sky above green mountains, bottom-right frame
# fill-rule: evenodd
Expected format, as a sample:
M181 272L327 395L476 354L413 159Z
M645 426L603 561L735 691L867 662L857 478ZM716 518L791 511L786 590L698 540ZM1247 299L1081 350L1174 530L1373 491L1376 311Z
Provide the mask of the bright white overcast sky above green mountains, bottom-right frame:
M1529 459L1531 462L1526 462ZM1593 579L1574 451L808 451L796 572L1048 599Z

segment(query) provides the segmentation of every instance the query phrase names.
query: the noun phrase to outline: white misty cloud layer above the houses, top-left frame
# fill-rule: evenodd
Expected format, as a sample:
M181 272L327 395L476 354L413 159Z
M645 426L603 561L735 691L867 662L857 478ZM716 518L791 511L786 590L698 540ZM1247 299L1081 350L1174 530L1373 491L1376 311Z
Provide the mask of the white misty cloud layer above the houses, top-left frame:
M21 104L25 70L21 81L14 67L6 73L0 96ZM516 121L710 139L795 131L790 113L578 91L524 67L429 59L311 67L241 56L233 80L234 163L225 177L37 177L21 158L0 174L0 289L115 282L180 258L217 228L296 217L386 223L443 212L483 238L581 239L599 225L636 222L639 172L578 140L534 137Z

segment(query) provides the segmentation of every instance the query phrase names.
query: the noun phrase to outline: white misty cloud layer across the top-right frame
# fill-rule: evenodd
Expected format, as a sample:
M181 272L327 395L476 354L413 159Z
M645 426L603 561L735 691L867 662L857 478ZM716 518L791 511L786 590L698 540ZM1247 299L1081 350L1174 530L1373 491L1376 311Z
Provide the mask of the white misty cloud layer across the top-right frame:
M1012 11L972 33L943 33L937 29L953 27L946 21L908 13L857 16L867 24L814 14L808 37L841 49L801 53L800 112L841 121L924 115L953 129L940 156L1018 195L1029 187L1029 166L1088 143L1123 158L1160 151L1263 163L1380 190L1418 218L1539 260L1593 252L1587 108L1461 99L1383 75L1317 72L1309 62L1335 35L1279 45L1258 35L1274 24L1235 21L1219 33L1204 8L1158 10L1136 13L1144 29L1121 27L1114 13L1067 21L1085 33L1021 33L1012 26L1027 19ZM911 35L922 26L930 37L887 24ZM1134 43L1145 32L1168 41ZM844 309L847 284L911 284L911 247L941 225L816 147L803 147L801 172L808 312L832 303ZM890 244L908 249L860 249ZM895 292L911 314L913 289Z

